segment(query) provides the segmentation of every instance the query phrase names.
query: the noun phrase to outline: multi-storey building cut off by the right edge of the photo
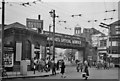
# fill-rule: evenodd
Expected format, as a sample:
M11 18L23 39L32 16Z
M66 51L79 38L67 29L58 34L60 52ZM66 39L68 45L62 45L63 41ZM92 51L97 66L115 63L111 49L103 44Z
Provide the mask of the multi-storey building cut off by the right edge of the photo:
M115 65L120 67L120 20L110 24L108 52Z

